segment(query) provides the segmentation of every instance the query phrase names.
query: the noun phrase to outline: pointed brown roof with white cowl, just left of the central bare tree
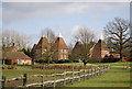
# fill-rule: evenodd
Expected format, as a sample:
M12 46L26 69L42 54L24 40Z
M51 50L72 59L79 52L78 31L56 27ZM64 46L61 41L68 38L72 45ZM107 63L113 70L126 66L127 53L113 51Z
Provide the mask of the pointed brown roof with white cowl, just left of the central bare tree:
M58 49L67 49L67 45L66 43L64 42L63 37L57 37L57 40L55 41L55 45L56 47L58 47Z

